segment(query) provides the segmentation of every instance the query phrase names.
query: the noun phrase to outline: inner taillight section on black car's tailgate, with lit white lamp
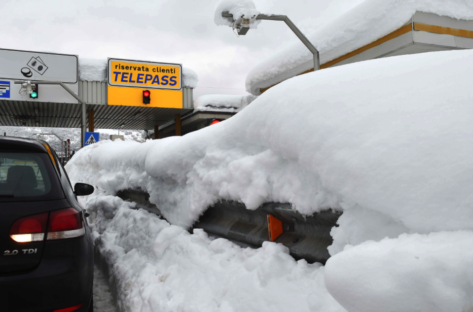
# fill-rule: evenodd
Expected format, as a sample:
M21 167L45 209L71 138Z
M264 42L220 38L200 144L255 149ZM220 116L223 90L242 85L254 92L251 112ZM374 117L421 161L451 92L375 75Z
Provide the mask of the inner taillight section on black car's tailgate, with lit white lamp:
M46 232L47 221L47 212L20 218L11 225L10 237L17 243L42 241Z

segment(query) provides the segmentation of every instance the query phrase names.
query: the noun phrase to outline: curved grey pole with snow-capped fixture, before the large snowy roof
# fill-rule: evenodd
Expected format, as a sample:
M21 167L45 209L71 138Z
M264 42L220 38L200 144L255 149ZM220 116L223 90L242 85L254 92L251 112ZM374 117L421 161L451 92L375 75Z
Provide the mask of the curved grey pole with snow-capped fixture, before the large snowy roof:
M283 21L314 55L314 71L320 69L319 51L286 15L261 14L252 0L223 0L215 10L214 21L218 26L230 26L238 35L256 29L261 20Z

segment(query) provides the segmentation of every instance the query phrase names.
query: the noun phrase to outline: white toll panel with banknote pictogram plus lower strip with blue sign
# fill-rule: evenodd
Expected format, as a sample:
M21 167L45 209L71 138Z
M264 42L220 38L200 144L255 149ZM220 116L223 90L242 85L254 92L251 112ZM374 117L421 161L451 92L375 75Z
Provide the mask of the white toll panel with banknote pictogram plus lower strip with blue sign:
M31 98L15 80L61 81L78 93L76 55L0 49L0 100L77 103L60 85L38 85L37 98Z

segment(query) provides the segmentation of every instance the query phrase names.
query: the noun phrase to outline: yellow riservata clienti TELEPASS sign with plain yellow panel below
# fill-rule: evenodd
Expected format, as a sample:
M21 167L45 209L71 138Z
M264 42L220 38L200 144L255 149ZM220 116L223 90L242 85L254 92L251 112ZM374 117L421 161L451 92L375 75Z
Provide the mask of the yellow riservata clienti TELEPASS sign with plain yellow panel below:
M181 64L109 58L108 74L109 105L182 108Z

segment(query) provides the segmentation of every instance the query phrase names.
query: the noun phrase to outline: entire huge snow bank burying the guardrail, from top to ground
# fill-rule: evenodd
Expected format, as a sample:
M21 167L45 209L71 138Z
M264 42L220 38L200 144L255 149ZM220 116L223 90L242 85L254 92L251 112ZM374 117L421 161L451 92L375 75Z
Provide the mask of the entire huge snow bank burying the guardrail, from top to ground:
M473 51L291 78L183 137L67 165L120 311L473 311ZM141 188L167 221L114 195ZM185 229L210 205L343 211L326 266ZM169 222L169 223L168 223Z

